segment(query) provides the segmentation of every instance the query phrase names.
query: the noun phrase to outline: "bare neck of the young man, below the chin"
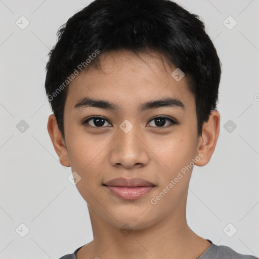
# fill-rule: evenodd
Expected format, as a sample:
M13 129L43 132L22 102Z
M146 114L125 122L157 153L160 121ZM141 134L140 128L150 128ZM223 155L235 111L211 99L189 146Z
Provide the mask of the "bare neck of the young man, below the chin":
M187 225L186 200L163 219L141 229L119 229L89 206L94 240L77 252L81 258L197 258L209 242Z

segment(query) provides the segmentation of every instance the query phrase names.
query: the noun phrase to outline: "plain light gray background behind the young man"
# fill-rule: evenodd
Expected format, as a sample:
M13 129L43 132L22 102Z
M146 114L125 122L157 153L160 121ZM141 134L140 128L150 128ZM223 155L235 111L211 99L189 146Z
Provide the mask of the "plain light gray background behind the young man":
M177 2L202 17L223 64L220 138L210 162L194 167L187 221L215 244L259 256L259 1ZM93 238L48 135L44 92L58 28L89 3L0 0L0 258L59 258Z

